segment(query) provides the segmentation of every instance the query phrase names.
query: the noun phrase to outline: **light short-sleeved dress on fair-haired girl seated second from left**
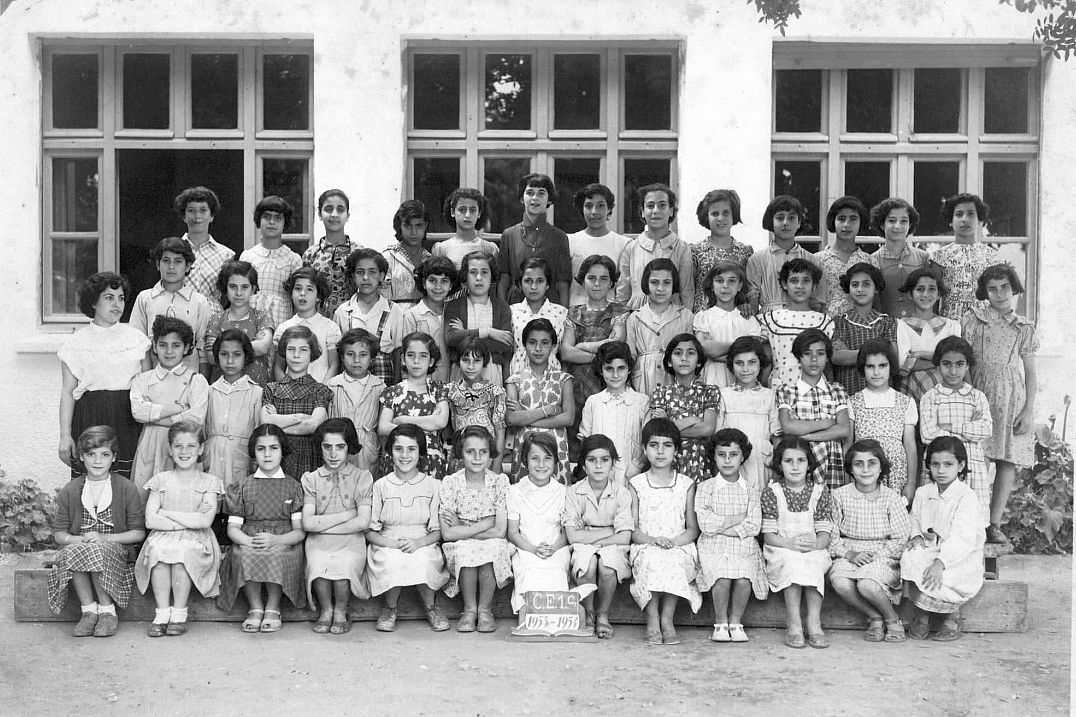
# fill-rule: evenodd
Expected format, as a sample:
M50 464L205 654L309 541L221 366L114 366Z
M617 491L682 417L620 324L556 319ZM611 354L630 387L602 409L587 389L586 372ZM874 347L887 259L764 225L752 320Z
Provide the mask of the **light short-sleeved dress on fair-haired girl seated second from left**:
M197 472L193 477L183 477L174 470L166 470L151 478L145 490L151 495L158 495L161 510L198 512L208 503L215 512L224 483L208 473ZM144 594L150 587L150 573L157 563L182 563L202 598L216 598L221 591L221 546L210 528L150 531L134 562L139 592Z

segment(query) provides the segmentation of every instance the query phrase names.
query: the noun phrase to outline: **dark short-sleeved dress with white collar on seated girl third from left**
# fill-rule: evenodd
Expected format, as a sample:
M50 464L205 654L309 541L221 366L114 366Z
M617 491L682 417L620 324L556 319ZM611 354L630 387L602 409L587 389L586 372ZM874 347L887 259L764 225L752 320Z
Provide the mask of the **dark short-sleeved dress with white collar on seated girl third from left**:
M301 516L302 500L302 487L283 470L269 476L259 469L228 487L224 509L228 522L240 525L244 535L284 535L293 530L292 519ZM293 605L306 606L302 543L257 549L232 544L221 563L217 605L230 610L240 589L251 581L279 585Z

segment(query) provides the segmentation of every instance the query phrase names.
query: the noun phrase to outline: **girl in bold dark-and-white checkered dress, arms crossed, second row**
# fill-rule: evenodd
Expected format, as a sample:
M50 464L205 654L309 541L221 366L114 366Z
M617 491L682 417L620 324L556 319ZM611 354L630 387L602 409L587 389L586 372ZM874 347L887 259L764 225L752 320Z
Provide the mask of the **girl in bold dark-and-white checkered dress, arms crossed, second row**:
M792 342L792 355L799 362L799 380L777 389L777 414L785 436L799 436L816 460L815 480L831 490L848 482L844 469L841 441L851 426L848 394L839 383L830 383L823 371L833 355L830 337L809 328Z

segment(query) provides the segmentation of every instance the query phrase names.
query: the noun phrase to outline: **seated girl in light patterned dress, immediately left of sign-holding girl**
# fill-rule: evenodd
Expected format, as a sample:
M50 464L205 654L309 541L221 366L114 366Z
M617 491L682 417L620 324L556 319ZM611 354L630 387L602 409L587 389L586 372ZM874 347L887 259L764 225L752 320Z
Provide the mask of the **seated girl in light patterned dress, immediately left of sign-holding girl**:
M508 477L490 469L497 458L493 436L468 426L456 437L453 454L464 468L441 483L439 519L449 582L444 594L462 593L457 632L496 632L493 593L512 577L505 531L508 526Z

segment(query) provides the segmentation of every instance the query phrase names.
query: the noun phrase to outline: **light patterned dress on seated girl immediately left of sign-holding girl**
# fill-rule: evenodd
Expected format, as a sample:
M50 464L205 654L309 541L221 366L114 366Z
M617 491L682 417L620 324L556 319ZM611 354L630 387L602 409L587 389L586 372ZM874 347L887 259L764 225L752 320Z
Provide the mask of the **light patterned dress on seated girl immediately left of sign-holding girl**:
M440 498L439 515L453 516L461 524L472 525L498 511L507 514L508 476L486 470L482 488L475 490L467 484L466 472L457 470L445 476L441 482ZM459 571L464 567L493 563L498 588L504 588L512 579L509 545L502 537L447 540L441 544L441 550L449 568L449 581L444 586L444 594L449 598L459 594Z

